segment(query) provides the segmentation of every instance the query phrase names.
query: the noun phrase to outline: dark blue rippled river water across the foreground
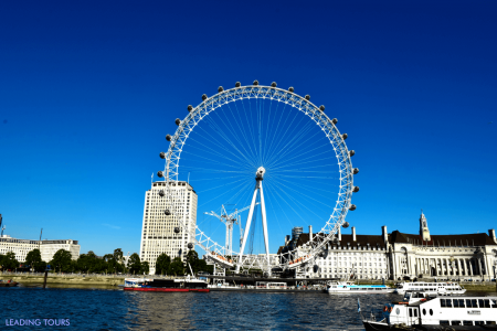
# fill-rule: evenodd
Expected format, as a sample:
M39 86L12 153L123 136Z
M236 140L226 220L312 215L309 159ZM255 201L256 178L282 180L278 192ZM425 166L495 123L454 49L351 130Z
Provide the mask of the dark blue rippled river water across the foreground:
M21 286L0 288L0 330L363 330L358 298L368 316L372 308L402 299L394 293L159 293ZM28 321L40 325L15 325Z

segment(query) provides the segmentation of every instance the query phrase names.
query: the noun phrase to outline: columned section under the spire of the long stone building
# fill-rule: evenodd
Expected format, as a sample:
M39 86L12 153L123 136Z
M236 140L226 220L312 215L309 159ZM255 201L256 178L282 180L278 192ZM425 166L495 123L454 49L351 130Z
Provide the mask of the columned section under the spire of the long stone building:
M393 279L441 278L491 280L496 278L495 229L461 235L431 235L421 214L420 235L398 231L389 235L390 274Z

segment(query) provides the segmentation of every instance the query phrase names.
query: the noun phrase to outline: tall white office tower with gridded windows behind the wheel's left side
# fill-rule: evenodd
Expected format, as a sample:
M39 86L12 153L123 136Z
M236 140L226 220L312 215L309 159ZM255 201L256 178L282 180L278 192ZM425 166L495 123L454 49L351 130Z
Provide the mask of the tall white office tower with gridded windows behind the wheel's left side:
M197 225L197 193L187 182L169 184L170 190L167 190L166 182L155 182L145 194L140 259L149 263L150 275L156 274L156 260L160 254L166 253L171 260L181 257L184 261L188 244L194 245L190 233L194 233ZM166 210L170 211L169 215ZM179 217L187 221L190 231L182 228Z

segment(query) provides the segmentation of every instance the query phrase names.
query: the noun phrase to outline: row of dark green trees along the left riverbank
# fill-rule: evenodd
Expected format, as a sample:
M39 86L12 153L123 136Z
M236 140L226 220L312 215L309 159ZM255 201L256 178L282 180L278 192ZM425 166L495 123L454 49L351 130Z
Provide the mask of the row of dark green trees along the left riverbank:
M187 254L187 263L183 264L181 258L171 258L167 254L161 254L157 258L156 275L175 275L182 276L190 274L188 267L190 264L194 274L199 271L212 273L213 267L208 266L203 259L199 259L195 250L190 250ZM41 259L40 249L35 248L28 253L25 261L22 264L23 268L36 273L45 271L47 265L50 269L55 273L83 273L83 274L133 274L133 275L149 275L150 266L148 261L141 261L138 254L134 253L129 256L127 264L123 256L120 248L114 249L113 254L106 254L103 257L97 256L89 250L86 254L80 255L76 260L72 259L70 252L59 249L52 260L45 263ZM6 255L0 254L0 269L15 270L21 264L15 259L15 254L12 252Z

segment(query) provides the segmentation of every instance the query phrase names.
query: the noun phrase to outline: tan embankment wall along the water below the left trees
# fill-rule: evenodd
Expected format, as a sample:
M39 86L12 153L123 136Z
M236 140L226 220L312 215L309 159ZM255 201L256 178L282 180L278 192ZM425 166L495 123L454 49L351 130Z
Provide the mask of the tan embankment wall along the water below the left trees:
M43 275L0 275L0 279L20 284L43 284ZM50 275L46 284L63 285L94 285L94 286L118 286L124 284L123 276L80 276L80 275Z

